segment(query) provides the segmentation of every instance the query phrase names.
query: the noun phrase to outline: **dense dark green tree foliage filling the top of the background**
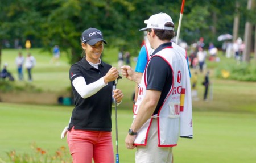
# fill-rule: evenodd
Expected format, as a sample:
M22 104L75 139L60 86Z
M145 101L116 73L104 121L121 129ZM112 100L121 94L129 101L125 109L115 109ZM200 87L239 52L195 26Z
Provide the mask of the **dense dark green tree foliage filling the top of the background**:
M240 2L238 11L245 8ZM154 7L152 7L154 6ZM164 0L9 0L0 2L0 39L13 42L18 38L32 40L33 47L51 51L60 45L67 51L70 62L81 58L80 35L89 27L104 32L108 47L123 47L137 56L143 39L144 20L152 14L166 12L179 24L181 1ZM206 43L217 42L217 36L232 33L235 4L229 0L191 0L185 3L180 38L191 44L204 37ZM4 16L6 15L6 16ZM245 14L241 14L240 30L243 34ZM1 55L1 53L0 53ZM0 57L1 58L1 57Z

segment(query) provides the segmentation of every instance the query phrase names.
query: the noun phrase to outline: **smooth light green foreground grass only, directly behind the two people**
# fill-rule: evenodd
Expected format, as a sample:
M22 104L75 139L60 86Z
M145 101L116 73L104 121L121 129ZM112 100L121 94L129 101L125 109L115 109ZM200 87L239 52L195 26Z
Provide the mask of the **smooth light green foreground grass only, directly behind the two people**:
M1 135L0 158L5 152L33 153L31 143L48 153L58 148L68 148L60 139L73 107L17 105L0 103ZM113 119L113 147L115 151L115 114ZM126 149L125 137L132 121L131 110L118 106L118 140L120 162L134 162L133 151ZM175 162L255 162L256 115L248 113L224 113L220 111L194 111L194 138L180 138L174 147ZM8 162L8 161L6 161Z

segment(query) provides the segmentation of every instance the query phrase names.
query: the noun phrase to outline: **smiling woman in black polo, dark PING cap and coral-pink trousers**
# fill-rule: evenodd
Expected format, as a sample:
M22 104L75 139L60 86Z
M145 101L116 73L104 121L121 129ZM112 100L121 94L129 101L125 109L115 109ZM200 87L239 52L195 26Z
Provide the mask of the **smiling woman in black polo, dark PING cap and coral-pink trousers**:
M113 90L117 68L100 59L104 49L102 32L88 28L82 32L85 57L69 70L75 108L68 126L67 142L74 163L114 162L112 145L112 103L121 103L123 93ZM115 106L115 105L113 105Z

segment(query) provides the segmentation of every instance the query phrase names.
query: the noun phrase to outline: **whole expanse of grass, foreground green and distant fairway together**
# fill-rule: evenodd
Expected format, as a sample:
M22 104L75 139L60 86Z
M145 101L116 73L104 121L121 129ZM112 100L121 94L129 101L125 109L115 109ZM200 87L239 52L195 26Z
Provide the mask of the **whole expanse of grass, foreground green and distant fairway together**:
M9 64L9 70L17 78L15 57L16 49L2 51L2 65ZM22 50L26 56L26 50ZM117 49L105 49L103 60L117 66ZM32 85L44 93L41 101L50 101L52 94L69 93L69 64L68 56L61 53L60 65L51 64L51 53L40 49L31 49L36 58L33 69L33 82L15 81L15 85L27 87ZM220 56L222 57L222 56ZM229 60L221 58L218 64L226 64ZM213 84L213 99L203 101L204 73L199 73L198 95L199 100L193 101L193 139L180 138L177 147L174 147L174 162L176 163L204 163L204 162L230 162L253 163L256 160L256 82L241 82L223 80L214 77L214 67L217 63L210 63L210 81ZM133 66L135 62L133 62ZM192 75L193 75L193 71ZM27 73L24 72L27 79ZM135 162L135 149L127 150L125 137L132 122L132 94L135 84L126 78L118 80L117 87L125 95L121 105L118 106L118 139L120 162ZM29 87L28 87L29 88ZM31 144L54 154L57 149L64 146L68 148L66 139L60 139L61 131L67 126L73 106L62 106L56 103L42 105L36 101L36 94L17 93L8 94L0 91L0 97L31 98L35 103L7 103L0 102L0 163L10 162L6 152L15 150L18 154L35 153ZM113 119L113 147L115 152L115 114ZM71 158L71 156L67 156ZM2 161L3 160L3 161Z

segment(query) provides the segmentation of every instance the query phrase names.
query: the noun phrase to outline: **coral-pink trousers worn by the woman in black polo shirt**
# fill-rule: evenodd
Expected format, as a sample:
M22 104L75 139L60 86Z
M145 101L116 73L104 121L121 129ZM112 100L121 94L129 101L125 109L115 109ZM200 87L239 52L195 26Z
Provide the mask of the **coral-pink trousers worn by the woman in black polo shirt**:
M67 142L73 163L114 163L111 132L71 129Z

